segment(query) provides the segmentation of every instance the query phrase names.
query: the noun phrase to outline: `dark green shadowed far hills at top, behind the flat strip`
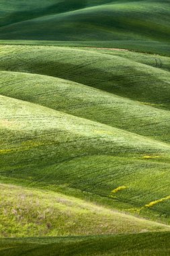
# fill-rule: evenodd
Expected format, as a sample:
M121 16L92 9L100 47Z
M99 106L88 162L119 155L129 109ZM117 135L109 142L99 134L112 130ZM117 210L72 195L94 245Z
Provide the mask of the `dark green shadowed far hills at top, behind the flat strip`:
M1 1L0 39L170 40L169 0L26 2Z

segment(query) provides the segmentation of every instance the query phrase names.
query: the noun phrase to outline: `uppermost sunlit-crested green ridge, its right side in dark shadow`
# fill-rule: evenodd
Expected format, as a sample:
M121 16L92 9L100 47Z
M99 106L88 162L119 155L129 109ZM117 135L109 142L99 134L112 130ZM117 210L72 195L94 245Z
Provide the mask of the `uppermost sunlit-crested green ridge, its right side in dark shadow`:
M155 104L158 108L170 108L170 72L163 70L164 62L165 69L169 68L169 58L167 61L157 56L157 63L162 60L161 68L157 68L136 62L136 57L132 61L96 51L52 46L1 46L0 59L0 70L60 77ZM156 61L150 63L155 65Z

